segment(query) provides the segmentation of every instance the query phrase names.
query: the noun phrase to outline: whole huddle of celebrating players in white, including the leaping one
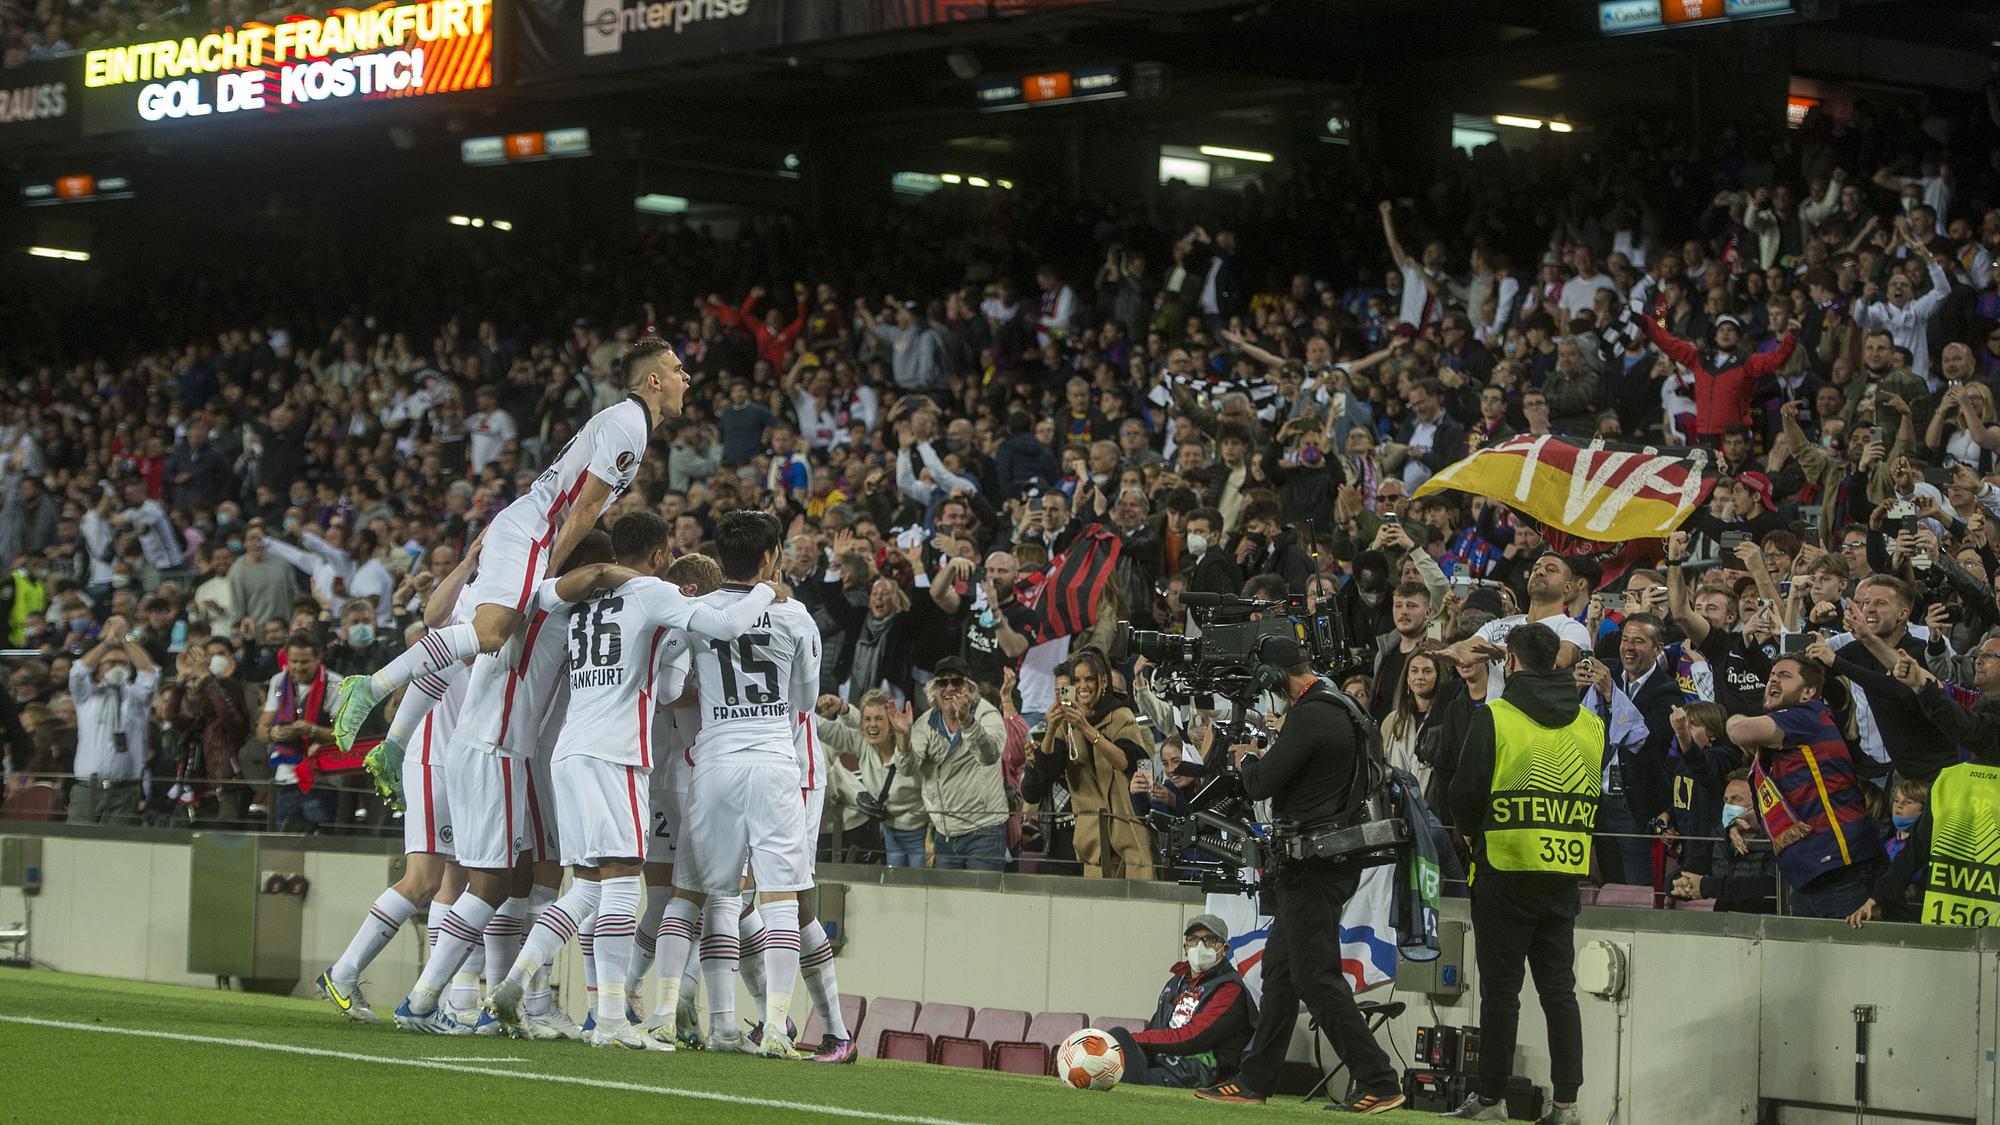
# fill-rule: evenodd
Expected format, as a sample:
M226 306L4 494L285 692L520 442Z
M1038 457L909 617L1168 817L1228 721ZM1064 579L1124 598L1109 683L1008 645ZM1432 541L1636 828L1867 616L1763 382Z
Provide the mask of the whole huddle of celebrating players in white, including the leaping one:
M406 811L410 873L368 907L320 993L376 1021L360 975L428 903L432 951L394 1011L400 1029L852 1063L826 931L800 915L826 807L818 625L774 601L784 528L770 512L722 514L714 556L672 562L652 510L598 530L688 390L656 336L618 356L618 380L628 398L594 414L432 591L440 625L324 705L350 749L378 703L416 685L366 759ZM446 859L464 873L450 903ZM578 937L594 981L582 1025L548 985ZM750 1035L736 1027L738 965L762 1005ZM810 1053L792 1043L800 969L826 1027ZM472 1003L454 1007L460 991Z

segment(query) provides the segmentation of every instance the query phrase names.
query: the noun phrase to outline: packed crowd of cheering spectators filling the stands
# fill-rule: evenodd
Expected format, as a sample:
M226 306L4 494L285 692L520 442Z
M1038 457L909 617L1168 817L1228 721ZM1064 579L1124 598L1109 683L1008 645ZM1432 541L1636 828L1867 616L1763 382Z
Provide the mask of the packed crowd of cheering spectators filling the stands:
M1152 210L946 192L858 218L852 252L786 224L648 234L578 278L524 246L484 300L440 266L434 322L34 342L0 394L0 597L34 651L10 791L72 819L380 825L310 777L300 693L416 637L656 330L696 382L612 516L654 506L676 554L734 506L788 522L848 859L1170 877L1140 817L1222 755L1110 633L1188 629L1188 591L1306 595L1376 639L1344 687L1440 817L1502 689L1492 645L1550 621L1610 719L1604 881L1848 913L1904 803L1992 749L1992 136L1984 106L1862 106L1454 152L1414 192L1338 156ZM1702 444L1722 478L1606 583L1498 502L1412 498L1514 434ZM1786 847L1812 833L1836 863Z

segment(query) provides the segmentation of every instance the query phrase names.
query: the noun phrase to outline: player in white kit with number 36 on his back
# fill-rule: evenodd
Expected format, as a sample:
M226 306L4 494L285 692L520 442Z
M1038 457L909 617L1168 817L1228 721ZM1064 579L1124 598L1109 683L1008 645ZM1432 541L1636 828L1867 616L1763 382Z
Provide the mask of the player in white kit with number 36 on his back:
M528 977L594 913L598 1007L590 1043L658 1049L628 1019L626 971L650 823L654 701L678 697L686 679L686 665L662 669L660 653L674 629L694 643L738 641L762 623L774 591L758 587L726 607L682 597L654 577L666 565L666 520L646 508L612 526L612 550L618 565L584 567L536 597L538 609L574 599L550 621L564 625L570 657L570 705L552 779L562 861L576 879L536 919L526 949L486 1003L504 1025L522 1027Z

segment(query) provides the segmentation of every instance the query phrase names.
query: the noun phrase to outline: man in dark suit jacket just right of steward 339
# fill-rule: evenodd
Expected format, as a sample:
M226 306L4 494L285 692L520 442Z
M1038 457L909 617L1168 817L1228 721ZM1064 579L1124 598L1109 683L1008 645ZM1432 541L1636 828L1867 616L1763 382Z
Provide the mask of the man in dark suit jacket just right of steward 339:
M1596 665L1586 705L1606 717L1604 803L1598 829L1616 833L1598 855L1610 883L1652 883L1652 819L1664 813L1672 793L1668 743L1674 739L1672 713L1680 705L1674 673L1662 661L1662 623L1634 613L1618 633L1618 665ZM1638 713L1644 731L1618 713Z

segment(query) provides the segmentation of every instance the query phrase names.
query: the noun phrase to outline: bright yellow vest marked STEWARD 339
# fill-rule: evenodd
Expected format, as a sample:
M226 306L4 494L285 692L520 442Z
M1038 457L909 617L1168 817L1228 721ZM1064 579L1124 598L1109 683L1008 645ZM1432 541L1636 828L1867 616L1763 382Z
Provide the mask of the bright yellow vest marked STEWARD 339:
M1604 721L1578 707L1568 727L1542 727L1506 699L1494 719L1494 781L1486 805L1486 863L1494 871L1590 873L1598 827Z

